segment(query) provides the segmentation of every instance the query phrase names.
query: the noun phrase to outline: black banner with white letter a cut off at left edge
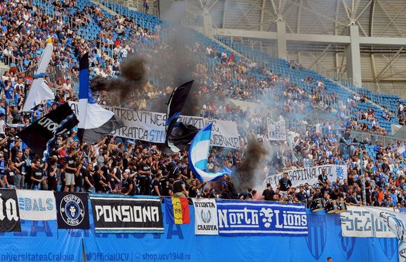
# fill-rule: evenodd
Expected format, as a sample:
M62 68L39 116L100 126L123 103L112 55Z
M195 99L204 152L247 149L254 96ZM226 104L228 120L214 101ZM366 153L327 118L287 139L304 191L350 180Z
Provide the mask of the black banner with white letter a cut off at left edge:
M21 232L17 201L15 190L0 189L0 232Z

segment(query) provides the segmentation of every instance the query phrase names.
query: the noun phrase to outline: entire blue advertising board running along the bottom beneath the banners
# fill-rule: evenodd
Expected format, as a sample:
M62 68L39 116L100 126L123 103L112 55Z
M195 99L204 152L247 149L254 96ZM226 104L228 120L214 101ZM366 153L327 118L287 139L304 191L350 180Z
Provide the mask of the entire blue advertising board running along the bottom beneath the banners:
M197 236L191 223L164 223L164 234L57 230L56 221L21 221L0 234L0 261L398 261L396 238L342 237L340 216L308 212L307 236ZM162 207L164 211L164 207ZM90 211L90 216L92 216ZM165 216L163 216L165 218Z

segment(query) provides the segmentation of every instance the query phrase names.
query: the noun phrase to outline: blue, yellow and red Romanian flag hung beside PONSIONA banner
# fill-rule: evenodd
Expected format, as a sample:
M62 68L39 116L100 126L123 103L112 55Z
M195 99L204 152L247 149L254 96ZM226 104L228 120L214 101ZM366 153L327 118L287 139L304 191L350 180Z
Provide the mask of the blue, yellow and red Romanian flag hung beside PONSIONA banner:
M189 224L189 201L187 198L164 198L166 223L168 224Z

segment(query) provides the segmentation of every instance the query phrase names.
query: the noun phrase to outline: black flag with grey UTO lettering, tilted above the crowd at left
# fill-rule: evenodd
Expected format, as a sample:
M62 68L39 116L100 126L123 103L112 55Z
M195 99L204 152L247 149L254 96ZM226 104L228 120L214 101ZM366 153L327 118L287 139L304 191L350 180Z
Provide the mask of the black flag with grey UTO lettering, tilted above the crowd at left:
M69 104L65 103L33 122L17 135L38 156L43 154L46 156L56 136L70 131L78 122Z

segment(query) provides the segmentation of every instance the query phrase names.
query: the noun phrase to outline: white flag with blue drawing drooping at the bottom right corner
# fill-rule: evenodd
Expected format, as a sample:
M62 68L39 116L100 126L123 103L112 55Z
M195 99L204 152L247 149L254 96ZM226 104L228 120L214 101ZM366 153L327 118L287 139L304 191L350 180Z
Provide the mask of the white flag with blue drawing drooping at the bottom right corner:
M393 209L392 211L374 207L365 209L382 221L398 238L398 259L406 261L406 214L394 212Z

